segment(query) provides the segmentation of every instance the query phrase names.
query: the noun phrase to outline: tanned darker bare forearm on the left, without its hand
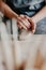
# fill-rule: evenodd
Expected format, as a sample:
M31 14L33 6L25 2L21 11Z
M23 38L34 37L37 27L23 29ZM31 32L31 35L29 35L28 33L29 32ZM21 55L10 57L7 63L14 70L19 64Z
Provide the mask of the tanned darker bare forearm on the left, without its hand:
M12 11L11 8L7 6L4 2L1 2L0 4L1 4L0 5L1 11L3 12L3 14L5 16L7 16L9 18L17 18L18 17L18 15L14 11Z

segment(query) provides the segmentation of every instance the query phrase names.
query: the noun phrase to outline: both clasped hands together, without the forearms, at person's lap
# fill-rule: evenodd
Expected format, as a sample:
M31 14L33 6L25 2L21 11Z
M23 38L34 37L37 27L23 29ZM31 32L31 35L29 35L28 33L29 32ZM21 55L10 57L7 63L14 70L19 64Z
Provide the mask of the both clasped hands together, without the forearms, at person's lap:
M27 15L20 15L18 17L18 27L21 29L30 30L34 33L36 25L32 22L32 18Z

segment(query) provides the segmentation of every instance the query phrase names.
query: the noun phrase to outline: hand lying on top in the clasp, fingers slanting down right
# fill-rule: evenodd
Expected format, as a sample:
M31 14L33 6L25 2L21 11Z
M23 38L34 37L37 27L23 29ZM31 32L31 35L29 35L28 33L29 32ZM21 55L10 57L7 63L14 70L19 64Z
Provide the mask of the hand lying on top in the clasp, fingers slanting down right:
M30 28L30 23L25 17L25 15L19 15L19 17L17 19L17 25L20 29L24 28L24 29L28 30Z

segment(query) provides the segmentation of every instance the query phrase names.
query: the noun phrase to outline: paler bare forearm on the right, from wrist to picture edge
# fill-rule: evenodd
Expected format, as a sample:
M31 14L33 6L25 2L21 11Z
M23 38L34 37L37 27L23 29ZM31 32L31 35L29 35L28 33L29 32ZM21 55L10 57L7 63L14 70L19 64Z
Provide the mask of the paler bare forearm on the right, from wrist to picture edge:
M46 17L46 5L36 15L32 17L32 20L34 23L39 23L44 17Z

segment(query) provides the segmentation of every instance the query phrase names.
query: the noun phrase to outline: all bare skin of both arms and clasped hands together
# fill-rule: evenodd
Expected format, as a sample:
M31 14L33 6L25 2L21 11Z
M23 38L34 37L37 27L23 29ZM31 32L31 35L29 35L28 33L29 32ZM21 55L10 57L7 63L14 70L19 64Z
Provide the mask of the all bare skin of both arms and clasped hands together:
M3 1L0 1L0 8L5 16L7 16L9 18L17 19L17 25L20 29L24 28L26 30L29 30L29 28L32 28L31 29L32 32L34 32L34 30L35 30L36 23L40 22L41 19L43 19L44 17L46 17L46 5L33 17L29 17L26 15L17 15Z

